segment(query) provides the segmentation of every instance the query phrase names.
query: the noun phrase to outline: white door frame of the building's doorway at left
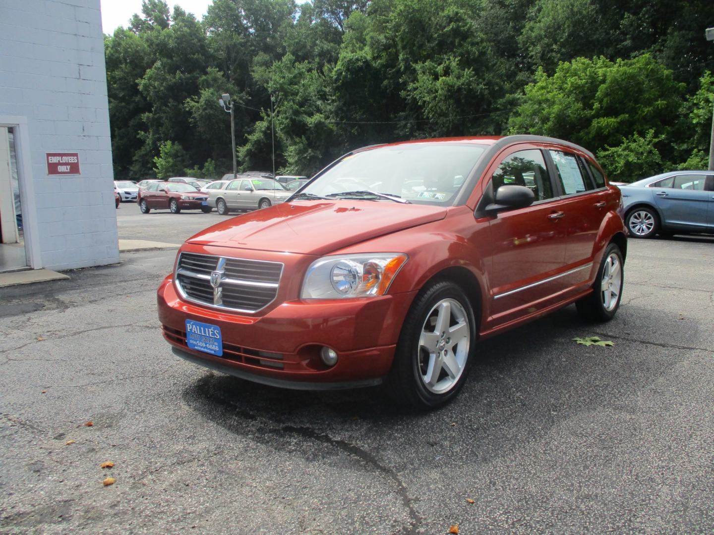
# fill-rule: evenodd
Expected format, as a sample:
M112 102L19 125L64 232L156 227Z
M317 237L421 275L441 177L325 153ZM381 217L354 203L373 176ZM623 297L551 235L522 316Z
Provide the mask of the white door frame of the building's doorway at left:
M39 224L37 222L34 180L32 180L29 124L26 117L0 116L0 126L13 129L17 180L22 207L22 239L25 243L25 258L29 267L39 270L42 267L42 255L38 235Z

